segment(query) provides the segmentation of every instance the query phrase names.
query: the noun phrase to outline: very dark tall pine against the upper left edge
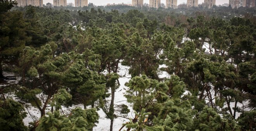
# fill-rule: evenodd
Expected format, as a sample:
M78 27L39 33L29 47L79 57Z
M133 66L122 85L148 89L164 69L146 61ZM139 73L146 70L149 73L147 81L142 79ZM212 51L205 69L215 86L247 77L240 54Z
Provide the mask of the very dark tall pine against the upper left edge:
M9 11L15 5L17 2L12 0L0 1L0 79L3 78L4 66L17 66L19 53L31 41L31 37L26 34L28 23L22 12Z

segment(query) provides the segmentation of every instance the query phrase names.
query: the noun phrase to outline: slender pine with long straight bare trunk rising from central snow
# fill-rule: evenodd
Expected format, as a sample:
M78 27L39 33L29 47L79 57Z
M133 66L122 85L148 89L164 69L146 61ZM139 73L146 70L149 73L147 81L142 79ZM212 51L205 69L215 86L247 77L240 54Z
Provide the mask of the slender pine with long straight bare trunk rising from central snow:
M106 87L111 89L111 102L109 109L103 108L107 117L111 119L110 131L112 131L114 121L114 97L115 91L119 87L118 82L118 67L119 62L126 55L126 42L125 34L122 28L119 28L117 24L112 24L112 28L107 30L104 35L100 36L99 39L93 41L92 50L95 54L101 56L100 68L98 73L101 73L105 69L107 70L107 83ZM102 32L102 31L101 31ZM96 36L97 37L97 36Z

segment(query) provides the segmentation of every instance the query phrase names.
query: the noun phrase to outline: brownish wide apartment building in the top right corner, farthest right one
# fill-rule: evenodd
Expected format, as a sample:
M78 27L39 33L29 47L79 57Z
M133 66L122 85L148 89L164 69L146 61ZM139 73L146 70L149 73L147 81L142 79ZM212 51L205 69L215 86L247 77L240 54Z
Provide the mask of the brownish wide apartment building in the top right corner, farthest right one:
M239 7L255 7L256 0L229 0L229 5L232 8L239 8Z

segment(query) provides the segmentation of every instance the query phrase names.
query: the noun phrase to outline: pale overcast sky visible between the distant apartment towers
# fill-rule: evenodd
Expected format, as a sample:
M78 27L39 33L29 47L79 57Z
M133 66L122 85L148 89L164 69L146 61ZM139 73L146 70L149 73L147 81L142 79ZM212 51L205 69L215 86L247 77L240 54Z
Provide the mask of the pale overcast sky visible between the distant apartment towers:
M53 3L53 0L43 0L43 4ZM74 0L67 0L67 3L74 3ZM165 4L165 0L161 0L161 3ZM178 0L178 5L181 3L187 3L187 0ZM198 3L202 3L204 0L199 0ZM131 0L88 0L88 3L93 3L94 5L107 5L107 3L131 3ZM149 0L144 0L144 3L149 3ZM223 3L228 3L228 0L216 0L216 5L222 5Z

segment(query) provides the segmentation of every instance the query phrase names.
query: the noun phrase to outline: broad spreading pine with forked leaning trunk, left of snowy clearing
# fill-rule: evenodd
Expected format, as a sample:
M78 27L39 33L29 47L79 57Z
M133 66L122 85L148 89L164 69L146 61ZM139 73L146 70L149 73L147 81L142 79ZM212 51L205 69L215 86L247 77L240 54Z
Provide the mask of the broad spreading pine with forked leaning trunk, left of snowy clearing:
M73 104L82 103L85 107L92 105L105 91L104 78L87 69L82 62L82 55L70 52L53 56L52 50L56 48L53 42L42 46L40 50L26 47L20 60L22 88L16 94L25 101L35 101L41 117L45 115L49 104L59 109L61 104L66 104L60 101L69 101L71 96L66 95L64 90L73 95L73 100L79 97ZM37 97L40 93L47 96L42 106ZM62 96L56 96L56 93L62 93Z

